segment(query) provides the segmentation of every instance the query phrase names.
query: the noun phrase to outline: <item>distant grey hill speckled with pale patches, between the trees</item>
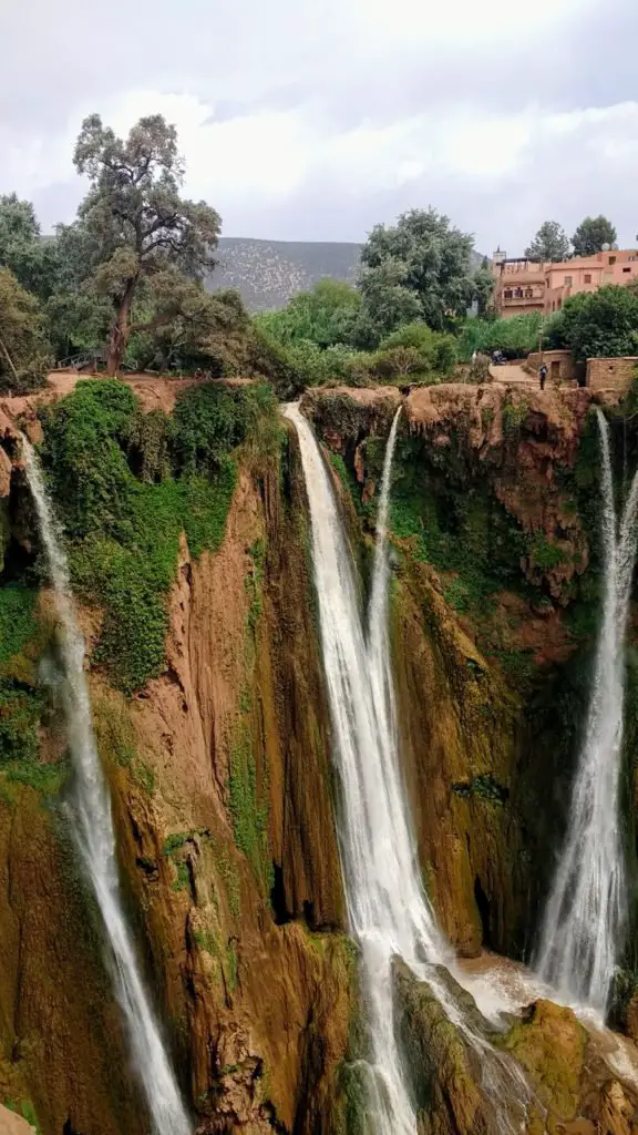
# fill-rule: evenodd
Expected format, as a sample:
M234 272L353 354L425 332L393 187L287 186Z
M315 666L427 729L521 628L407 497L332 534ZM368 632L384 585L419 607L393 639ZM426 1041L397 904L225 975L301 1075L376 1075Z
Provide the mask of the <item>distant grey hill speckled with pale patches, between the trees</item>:
M219 263L207 286L237 288L249 311L269 311L284 308L325 276L354 280L360 255L360 244L223 236Z

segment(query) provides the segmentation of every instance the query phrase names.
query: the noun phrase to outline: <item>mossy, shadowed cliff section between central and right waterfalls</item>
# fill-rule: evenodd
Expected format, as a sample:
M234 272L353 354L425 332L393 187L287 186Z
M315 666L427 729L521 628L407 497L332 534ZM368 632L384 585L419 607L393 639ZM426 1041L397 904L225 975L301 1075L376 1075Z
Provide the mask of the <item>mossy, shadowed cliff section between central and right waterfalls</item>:
M403 407L394 655L425 882L461 953L528 956L564 825L594 629L589 393L337 389L308 392L303 405L363 539Z

